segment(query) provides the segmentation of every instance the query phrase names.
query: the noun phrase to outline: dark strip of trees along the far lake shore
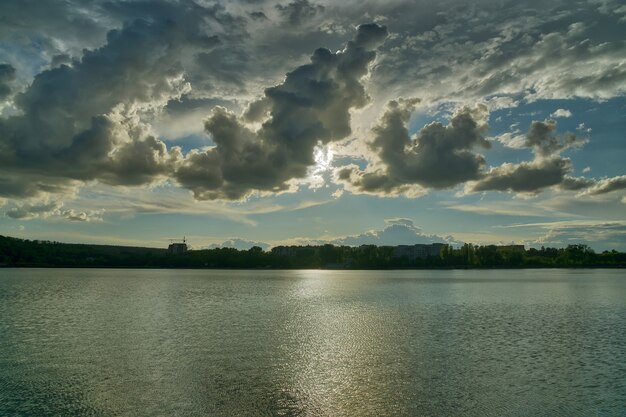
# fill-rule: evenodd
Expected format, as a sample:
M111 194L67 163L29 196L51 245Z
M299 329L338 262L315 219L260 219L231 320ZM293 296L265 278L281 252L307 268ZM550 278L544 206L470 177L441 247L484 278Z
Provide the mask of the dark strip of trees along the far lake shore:
M410 268L597 268L626 267L626 253L596 253L585 244L565 248L530 248L465 244L443 245L438 256L398 256L394 246L281 246L189 250L69 244L0 236L2 267L99 268L273 268L273 269L410 269Z

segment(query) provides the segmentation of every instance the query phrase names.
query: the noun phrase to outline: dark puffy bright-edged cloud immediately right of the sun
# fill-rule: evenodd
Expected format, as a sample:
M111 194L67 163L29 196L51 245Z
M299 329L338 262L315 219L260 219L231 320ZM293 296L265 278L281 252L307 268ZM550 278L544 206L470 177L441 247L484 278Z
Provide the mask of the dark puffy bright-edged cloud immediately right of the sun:
M370 144L382 166L364 171L356 166L340 168L336 177L357 192L398 194L407 187L449 188L480 177L485 165L475 147L489 148L484 133L487 109L464 107L444 126L433 122L412 139L407 125L416 100L391 101L372 131Z

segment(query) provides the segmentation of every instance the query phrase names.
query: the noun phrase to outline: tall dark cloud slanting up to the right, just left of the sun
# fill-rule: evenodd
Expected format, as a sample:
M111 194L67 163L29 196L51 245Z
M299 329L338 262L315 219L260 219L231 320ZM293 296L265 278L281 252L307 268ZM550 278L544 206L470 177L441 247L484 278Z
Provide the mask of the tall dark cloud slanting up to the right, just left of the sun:
M350 110L369 97L361 83L376 57L373 49L387 36L385 27L361 25L355 40L336 53L318 49L311 63L289 72L284 82L265 90L251 105L259 130L250 120L217 107L205 122L216 147L190 152L175 178L197 199L239 199L253 190L278 192L288 181L307 175L318 144L351 132Z

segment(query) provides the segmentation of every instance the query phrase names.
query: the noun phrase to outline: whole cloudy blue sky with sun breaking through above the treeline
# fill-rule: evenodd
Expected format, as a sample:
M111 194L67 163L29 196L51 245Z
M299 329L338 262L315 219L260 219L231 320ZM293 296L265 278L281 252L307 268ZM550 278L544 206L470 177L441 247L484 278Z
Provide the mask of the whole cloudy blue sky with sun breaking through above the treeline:
M4 0L0 234L626 251L618 0Z

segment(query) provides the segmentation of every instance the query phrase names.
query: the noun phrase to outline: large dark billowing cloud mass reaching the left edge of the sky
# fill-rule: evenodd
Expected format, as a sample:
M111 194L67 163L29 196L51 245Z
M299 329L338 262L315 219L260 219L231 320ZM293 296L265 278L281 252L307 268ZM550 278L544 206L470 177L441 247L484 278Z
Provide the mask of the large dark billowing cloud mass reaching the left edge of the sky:
M182 46L210 47L201 22L133 20L81 59L39 73L15 96L20 114L0 119L0 194L28 197L92 180L140 185L171 172L180 155L144 118L189 91Z

